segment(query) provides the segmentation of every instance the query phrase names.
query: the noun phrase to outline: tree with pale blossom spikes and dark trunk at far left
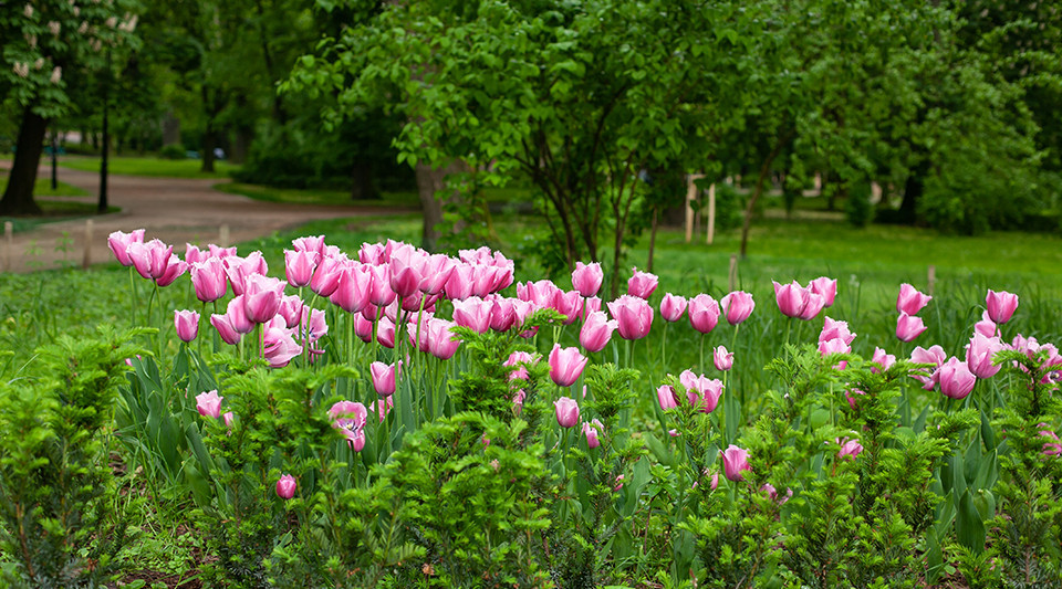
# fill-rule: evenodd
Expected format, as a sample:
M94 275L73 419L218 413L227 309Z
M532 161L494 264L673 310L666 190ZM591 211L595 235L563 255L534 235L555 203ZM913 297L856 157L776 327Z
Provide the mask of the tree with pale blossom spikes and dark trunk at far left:
M49 122L70 112L85 88L70 84L98 70L114 48L137 44L135 0L30 0L0 11L0 95L19 109L21 122L0 213L38 214L33 185ZM65 74L64 74L65 72Z

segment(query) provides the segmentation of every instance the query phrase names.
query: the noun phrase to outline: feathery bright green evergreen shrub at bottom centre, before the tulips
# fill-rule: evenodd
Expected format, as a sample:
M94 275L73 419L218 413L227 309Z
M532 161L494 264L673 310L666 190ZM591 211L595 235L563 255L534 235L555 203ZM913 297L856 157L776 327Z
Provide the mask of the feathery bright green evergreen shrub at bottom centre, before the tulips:
M385 476L424 547L430 587L544 586L540 535L550 527L541 443L522 420L458 413L406 439Z

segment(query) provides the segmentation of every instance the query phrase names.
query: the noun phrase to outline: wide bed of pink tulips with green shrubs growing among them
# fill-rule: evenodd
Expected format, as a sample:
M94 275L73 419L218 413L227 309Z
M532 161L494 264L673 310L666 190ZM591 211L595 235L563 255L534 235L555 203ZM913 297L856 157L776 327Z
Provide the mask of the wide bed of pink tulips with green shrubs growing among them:
M999 493L1006 501L992 508L978 503L988 505L986 497L996 493L998 456L1018 452L1001 445L1001 433L993 437L1003 421L1028 430L1021 439L1041 461L1035 469L1058 471L1062 462L1059 417L1048 412L1060 397L1062 356L1033 337L1004 338L1018 309L1018 296L1007 292L988 291L965 349L949 353L925 341L928 327L919 313L933 296L903 284L896 341L872 341L874 351L864 359L853 353L853 328L860 327L826 315L843 316L833 308L837 281L826 276L806 285L773 282L771 311L762 302L757 307L746 291L718 299L709 293L656 295L657 276L637 269L625 294L604 301L596 263L577 262L571 288L545 278L514 284L514 263L488 248L451 256L387 241L347 253L324 236L304 236L284 251L282 276L270 276L260 252L241 256L235 249L188 244L180 259L173 246L144 239L137 230L108 240L118 262L131 267L131 281L150 281L155 301L159 288L188 274L200 304L173 312L178 354L201 371L180 382L188 387L187 413L202 421L186 420L176 431L188 432L187 451L199 472L228 473L215 478L221 491L211 501L277 502L273 520L257 519L277 537L287 525L277 514L299 514L298 529L284 541L293 541L291 534L306 543L333 538L336 561L348 564L329 569L330 582L417 582L417 569L408 566L421 562L433 572L419 575L439 575L438 583L458 582L469 567L476 579L500 583L506 559L523 559L535 582L555 578L563 586L628 580L625 567L635 561L709 585L915 582L939 577L949 564L976 568L977 558L997 557L987 530L1001 522L997 513L1021 501L1006 491ZM767 314L784 323L783 344L767 367L774 388L746 390L735 375L764 367L742 357L748 345L739 329ZM150 303L144 316L150 320ZM706 354L720 324L729 341ZM813 344L790 341L802 325L818 330ZM680 330L681 341L699 339L699 364L671 369L668 329ZM747 338L762 337L748 332ZM653 335L658 355L643 341ZM908 350L919 338L922 345ZM167 348L157 344L162 355ZM687 362L690 349L673 350L673 359ZM650 354L659 359L655 371ZM294 377L284 380L285 370L302 375L288 404L261 385L289 382ZM192 390L199 383L204 388ZM1037 395L1031 404L1022 400L1028 391ZM252 392L267 400L254 401ZM284 423L302 416L300 423L327 428L334 443L284 440L298 429L288 424L254 430L257 439L274 442L259 449L261 456L239 453L236 441L266 427L256 412ZM219 455L206 455L191 440L199 432ZM410 450L435 456L441 443L457 453L446 459L456 471L438 470L439 456L418 461ZM1002 464L1007 476L1043 480L1017 457ZM254 474L237 477L239 469ZM513 483L517 476L525 480ZM389 491L376 486L383 482ZM489 547L456 532L457 524L447 530L436 516L449 506L434 503L448 492L475 497L472 491L487 486L512 499L492 507L510 509L498 515L523 526ZM369 501L369 490L382 493L371 508L352 503ZM408 504L410 497L435 511ZM478 508L478 499L468 501ZM233 505L233 514L242 513ZM356 539L353 546L343 544L339 528L315 527L347 525L322 524L320 514L348 522L355 512L365 520L345 532ZM379 519L388 513L415 524ZM887 530L875 536L871 528L878 526ZM368 548L384 537L402 540L373 548L384 560L374 562ZM826 554L840 546L831 543L853 538L862 543L858 550ZM341 548L362 550L369 556L357 558L368 560L351 564ZM889 550L903 556L877 558ZM730 556L718 558L723 551ZM267 553L258 557L277 556ZM998 558L1000 574L1017 570ZM1055 569L1043 570L1037 579ZM844 581L844 571L861 580Z

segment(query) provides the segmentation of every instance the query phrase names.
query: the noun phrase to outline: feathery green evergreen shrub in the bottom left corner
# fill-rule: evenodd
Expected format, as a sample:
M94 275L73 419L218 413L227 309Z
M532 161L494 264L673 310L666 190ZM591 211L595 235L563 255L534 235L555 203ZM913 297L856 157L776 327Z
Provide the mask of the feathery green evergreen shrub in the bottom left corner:
M114 511L107 432L136 333L61 337L40 364L0 383L0 549L14 587L96 587L128 541Z

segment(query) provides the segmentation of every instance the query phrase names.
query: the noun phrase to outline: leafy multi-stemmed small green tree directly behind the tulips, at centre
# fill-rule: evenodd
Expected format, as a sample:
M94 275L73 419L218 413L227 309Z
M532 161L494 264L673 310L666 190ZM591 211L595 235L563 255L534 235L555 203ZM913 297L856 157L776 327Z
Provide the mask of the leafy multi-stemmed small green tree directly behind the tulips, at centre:
M336 92L339 120L400 111L410 165L454 159L538 189L555 260L611 262L617 285L638 172L699 168L735 124L756 3L482 0L388 4L300 60L290 90ZM723 24L725 23L725 24Z

